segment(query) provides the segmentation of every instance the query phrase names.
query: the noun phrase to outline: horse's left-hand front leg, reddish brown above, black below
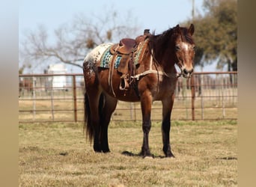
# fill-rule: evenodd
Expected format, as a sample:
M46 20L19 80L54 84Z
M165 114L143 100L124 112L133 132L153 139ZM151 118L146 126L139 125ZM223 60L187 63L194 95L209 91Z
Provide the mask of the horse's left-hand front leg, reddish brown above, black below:
M143 144L141 147L141 155L145 156L153 156L150 153L150 148L148 144L148 135L151 128L151 105L152 105L152 97L150 93L144 93L141 95L141 111L142 111L142 130L143 130Z

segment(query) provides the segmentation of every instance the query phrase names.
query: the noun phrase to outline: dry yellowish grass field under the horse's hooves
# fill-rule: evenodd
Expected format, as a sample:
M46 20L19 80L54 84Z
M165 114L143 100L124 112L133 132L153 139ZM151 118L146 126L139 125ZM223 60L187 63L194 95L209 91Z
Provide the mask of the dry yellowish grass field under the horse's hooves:
M237 121L174 121L175 159L163 157L160 123L149 141L154 159L135 156L141 124L112 122L112 152L94 153L82 123L19 124L19 186L237 186Z

